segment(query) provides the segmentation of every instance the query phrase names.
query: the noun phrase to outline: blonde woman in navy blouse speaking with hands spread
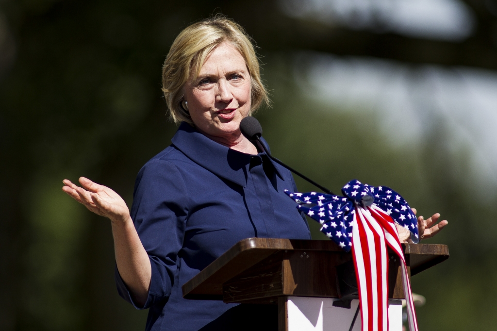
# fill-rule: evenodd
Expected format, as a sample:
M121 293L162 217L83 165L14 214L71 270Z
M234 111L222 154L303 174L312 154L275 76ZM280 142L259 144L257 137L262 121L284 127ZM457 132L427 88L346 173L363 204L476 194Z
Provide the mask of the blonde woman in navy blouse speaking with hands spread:
M185 28L167 55L163 90L181 124L172 145L140 170L131 213L115 192L86 178L83 187L64 180L63 190L111 220L118 291L150 308L146 330L276 330L275 306L181 293L242 239L311 238L284 194L296 190L291 173L240 132L240 121L268 102L242 27L217 16Z

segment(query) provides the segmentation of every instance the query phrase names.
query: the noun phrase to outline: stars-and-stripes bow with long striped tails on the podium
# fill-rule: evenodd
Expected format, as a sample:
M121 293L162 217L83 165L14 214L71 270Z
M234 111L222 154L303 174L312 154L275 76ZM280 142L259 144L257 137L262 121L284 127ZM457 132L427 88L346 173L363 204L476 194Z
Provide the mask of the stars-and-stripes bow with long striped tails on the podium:
M409 330L417 331L411 284L395 223L419 242L417 220L404 198L386 186L351 180L343 196L285 191L297 208L321 224L321 231L345 251L352 250L361 308L362 331L388 331L388 251L399 256Z

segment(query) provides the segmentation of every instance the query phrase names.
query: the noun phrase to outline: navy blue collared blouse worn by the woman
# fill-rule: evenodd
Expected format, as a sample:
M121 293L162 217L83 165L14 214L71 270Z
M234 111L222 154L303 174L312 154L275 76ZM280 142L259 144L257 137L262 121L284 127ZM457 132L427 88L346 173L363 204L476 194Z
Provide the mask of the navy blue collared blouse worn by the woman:
M152 265L145 306L116 268L119 295L150 309L147 331L277 330L275 306L186 300L181 286L242 239L310 239L284 189L296 191L290 171L265 153L237 152L180 125L135 184L131 218Z

